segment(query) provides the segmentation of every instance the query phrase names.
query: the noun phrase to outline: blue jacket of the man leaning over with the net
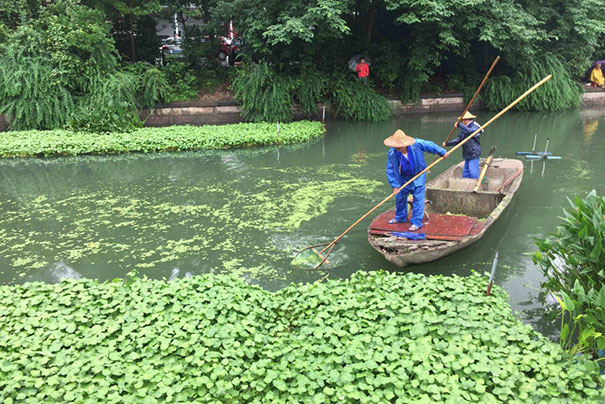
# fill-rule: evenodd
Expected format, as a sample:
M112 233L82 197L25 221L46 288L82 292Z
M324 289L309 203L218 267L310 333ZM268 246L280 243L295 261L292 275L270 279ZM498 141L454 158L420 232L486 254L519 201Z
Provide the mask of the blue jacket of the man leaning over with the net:
M426 162L424 161L424 154L422 152L428 152L433 154L438 154L441 157L446 153L445 149L437 146L435 143L416 139L416 143L411 146L408 146L408 153L414 154L414 172L418 174L420 171L426 168ZM406 182L408 182L412 177L405 178L401 175L399 170L399 153L395 150L394 147L389 149L388 158L387 158L387 178L389 180L389 184L393 188L399 188ZM414 175L416 175L414 174ZM412 183L414 186L424 186L426 182L426 174L422 174L420 177L416 178Z

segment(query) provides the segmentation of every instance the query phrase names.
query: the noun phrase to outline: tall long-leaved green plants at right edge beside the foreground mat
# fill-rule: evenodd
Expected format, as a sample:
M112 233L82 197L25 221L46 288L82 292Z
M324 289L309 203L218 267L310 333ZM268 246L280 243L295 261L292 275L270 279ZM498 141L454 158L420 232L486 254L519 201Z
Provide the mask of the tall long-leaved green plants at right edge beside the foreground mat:
M561 305L562 345L596 357L605 349L605 198L593 190L569 202L552 239L536 240L533 261Z

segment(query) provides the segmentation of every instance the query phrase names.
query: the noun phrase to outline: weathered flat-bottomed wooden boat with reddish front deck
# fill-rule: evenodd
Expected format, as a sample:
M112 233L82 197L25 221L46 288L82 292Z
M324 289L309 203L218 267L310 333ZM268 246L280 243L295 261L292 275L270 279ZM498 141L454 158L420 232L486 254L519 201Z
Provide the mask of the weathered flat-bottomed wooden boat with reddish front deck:
M483 161L481 161L483 164ZM368 241L393 264L405 267L434 261L479 240L510 204L523 179L523 162L494 159L479 191L476 179L462 178L464 162L437 176L426 186L423 227L425 240L409 240L393 232L407 232L410 223L389 224L390 210L368 228Z

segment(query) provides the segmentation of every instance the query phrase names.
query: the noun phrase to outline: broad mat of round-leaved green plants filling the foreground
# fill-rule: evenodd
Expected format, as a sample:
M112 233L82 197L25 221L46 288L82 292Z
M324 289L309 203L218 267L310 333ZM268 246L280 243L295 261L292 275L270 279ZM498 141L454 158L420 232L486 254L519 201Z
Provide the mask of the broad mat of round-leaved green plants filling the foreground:
M357 273L0 287L0 402L602 403L598 365L487 278Z

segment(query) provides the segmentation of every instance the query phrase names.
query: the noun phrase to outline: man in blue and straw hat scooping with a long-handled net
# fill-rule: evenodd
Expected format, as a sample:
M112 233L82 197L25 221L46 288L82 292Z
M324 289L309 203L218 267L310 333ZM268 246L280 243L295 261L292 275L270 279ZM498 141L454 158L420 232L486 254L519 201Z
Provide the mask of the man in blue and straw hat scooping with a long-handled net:
M395 193L395 217L389 223L405 223L408 221L408 194L412 194L412 225L409 230L414 231L422 227L424 216L424 185L426 174L422 174L405 188L399 190L403 184L411 180L416 174L426 168L424 154L428 152L447 158L445 149L428 140L415 139L398 129L392 136L384 140L389 146L387 158L387 178Z

